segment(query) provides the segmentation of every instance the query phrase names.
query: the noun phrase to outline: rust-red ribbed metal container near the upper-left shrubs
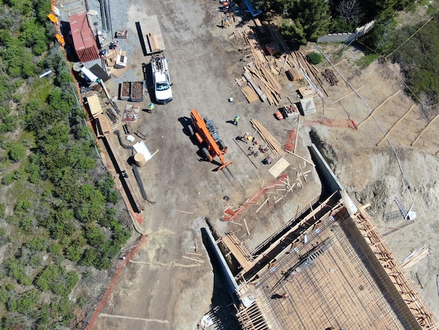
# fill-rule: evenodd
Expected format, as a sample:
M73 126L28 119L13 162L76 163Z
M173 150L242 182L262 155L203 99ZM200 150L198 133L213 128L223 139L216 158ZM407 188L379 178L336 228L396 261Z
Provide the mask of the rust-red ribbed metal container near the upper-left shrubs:
M87 13L79 13L69 18L70 30L76 55L81 62L89 62L99 58L96 39L88 22Z

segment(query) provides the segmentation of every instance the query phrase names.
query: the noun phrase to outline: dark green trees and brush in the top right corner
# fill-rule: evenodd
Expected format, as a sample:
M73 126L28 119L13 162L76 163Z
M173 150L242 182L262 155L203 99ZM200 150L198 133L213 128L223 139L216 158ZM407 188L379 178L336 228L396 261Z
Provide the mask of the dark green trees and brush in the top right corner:
M439 22L435 1L410 0L259 0L266 19L281 15L285 39L294 46L316 41L327 33L353 32L374 20L372 31L351 46L365 51L363 65L372 60L396 61L403 70L407 93L428 105L438 103ZM424 18L398 27L398 13L426 7ZM411 15L407 15L410 17ZM414 15L413 15L414 16ZM433 18L433 19L432 19ZM428 23L427 23L428 22Z

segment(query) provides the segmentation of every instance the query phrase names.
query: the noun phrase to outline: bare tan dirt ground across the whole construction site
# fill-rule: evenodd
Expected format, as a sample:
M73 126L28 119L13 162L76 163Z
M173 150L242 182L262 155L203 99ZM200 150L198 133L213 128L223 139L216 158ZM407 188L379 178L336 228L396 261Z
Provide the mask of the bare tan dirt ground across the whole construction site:
M219 282L216 275L214 277L201 236L205 220L198 220L203 217L210 219L222 233L239 230L236 236L251 250L294 218L298 210L308 207L322 190L312 166L287 154L285 159L290 166L285 173L288 173L290 183L296 182L295 169L311 170L306 174L306 182L302 179L303 189L294 187L278 203L275 202L285 191L273 190L269 202L260 211L256 212L266 197L245 210L236 220L241 225L220 220L227 206L236 209L260 187L274 180L269 173L271 166L262 164L264 156L252 157L255 165L252 164L246 156L249 145L240 141L235 143L235 138L245 132L253 133L250 119L257 119L284 144L288 130L296 128L297 121L278 121L273 115L278 111L275 105L259 100L249 104L245 100L235 82L241 77L245 65L240 61L243 55L238 52L244 41L229 38L234 32L233 25L226 29L220 27L219 6L217 1L127 1L126 26L114 27L128 29L128 39L121 39L119 46L123 48L123 44L130 43L135 51L127 54L130 70L126 72L129 75L115 72L118 78L107 81L110 93L116 95L121 81L143 79L142 63L149 62L150 57L142 53L135 23L142 22L145 15L157 15L166 44L174 100L167 105L156 105L153 114L140 112L137 123L133 124L135 129L146 134L145 143L151 153L156 152L140 169L145 190L154 202L145 202L144 223L140 225L147 235L147 242L121 272L95 329L196 329L210 305L221 309L233 302L224 293L225 284ZM246 17L236 22L239 29L253 25L254 22ZM439 256L439 161L435 155L439 150L438 123L430 126L417 143L411 145L435 117L437 108L421 112L417 105L389 135L393 148L387 142L377 147L384 133L413 104L412 99L405 96L398 67L387 62L373 62L362 70L355 60L363 54L355 48L348 48L339 55L342 45L318 46L332 64L339 63L333 68L337 70L339 83L325 86L329 95L324 100L324 112L322 101L315 98L317 113L301 117L297 154L311 159L308 147L315 143L351 198L362 204L371 204L372 220L383 234L390 230L389 227L407 223L403 218L384 221L384 213L398 211L394 202L396 197L406 209L414 205L412 211L417 213L416 220L386 235L384 240L398 260L421 246L431 249L430 256L407 272L437 314L439 265L435 260ZM309 44L302 51L312 48L315 46ZM322 71L330 66L323 62L318 69ZM360 124L370 110L358 95L343 98L352 89L337 72L353 88L360 88L358 93L370 110L396 91L400 93L374 112L376 120L365 121L358 130L343 127L347 119ZM298 100L297 87L284 75L280 81L285 96L281 105L289 103L287 96L293 101ZM234 102L229 102L229 98ZM335 103L339 98L343 100ZM117 102L123 109L126 102ZM148 104L149 95L146 95L140 109L147 108ZM225 159L233 161L229 169L234 180L229 181L222 171L214 171L215 164L202 161L197 145L192 143L185 128L192 109L215 121L219 134L229 147ZM241 117L238 126L230 123L236 115ZM122 131L121 124L118 128ZM115 145L119 145L116 136L111 138L115 139ZM119 152L123 159L130 157L128 150L122 147L119 147ZM278 159L275 157L273 164ZM225 196L229 200L224 199ZM250 235L243 225L244 218ZM189 259L194 256L203 262ZM214 291L216 298L212 298ZM228 319L233 324L233 316L228 315ZM223 321L227 322L227 319Z

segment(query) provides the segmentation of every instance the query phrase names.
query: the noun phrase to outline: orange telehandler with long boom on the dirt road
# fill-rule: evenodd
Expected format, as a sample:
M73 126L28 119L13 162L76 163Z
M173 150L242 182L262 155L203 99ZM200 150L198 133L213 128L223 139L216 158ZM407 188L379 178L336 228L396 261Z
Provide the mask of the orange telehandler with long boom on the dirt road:
M188 126L189 133L191 136L195 136L198 143L202 145L201 151L205 158L209 159L209 161L213 161L215 157L219 157L221 165L217 170L227 168L232 161L226 163L224 160L223 154L227 153L227 147L219 136L217 126L215 126L212 119L201 118L198 110L192 110L191 123L192 124ZM227 171L230 173L229 169L227 169Z

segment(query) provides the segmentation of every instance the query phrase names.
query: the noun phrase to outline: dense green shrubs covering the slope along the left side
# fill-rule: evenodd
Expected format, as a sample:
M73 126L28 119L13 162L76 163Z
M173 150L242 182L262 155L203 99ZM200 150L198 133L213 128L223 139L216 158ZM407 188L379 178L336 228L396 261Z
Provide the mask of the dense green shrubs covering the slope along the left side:
M0 329L72 326L79 281L130 237L48 13L0 0Z

